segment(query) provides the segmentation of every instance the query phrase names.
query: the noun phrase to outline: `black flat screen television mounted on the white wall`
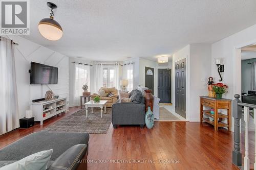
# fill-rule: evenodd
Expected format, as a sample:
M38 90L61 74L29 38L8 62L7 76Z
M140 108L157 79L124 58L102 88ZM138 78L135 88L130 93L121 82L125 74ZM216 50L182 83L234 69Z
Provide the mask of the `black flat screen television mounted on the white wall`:
M58 68L31 62L30 84L58 84Z

